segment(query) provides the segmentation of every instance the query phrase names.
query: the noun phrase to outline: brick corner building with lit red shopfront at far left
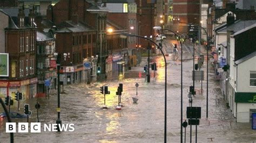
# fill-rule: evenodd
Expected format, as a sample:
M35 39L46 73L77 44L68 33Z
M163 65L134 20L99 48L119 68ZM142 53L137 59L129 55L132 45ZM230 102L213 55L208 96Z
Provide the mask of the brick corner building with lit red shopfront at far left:
M37 93L36 28L34 9L1 9L1 53L9 53L9 76L1 77L1 97L15 96L19 91L23 99Z

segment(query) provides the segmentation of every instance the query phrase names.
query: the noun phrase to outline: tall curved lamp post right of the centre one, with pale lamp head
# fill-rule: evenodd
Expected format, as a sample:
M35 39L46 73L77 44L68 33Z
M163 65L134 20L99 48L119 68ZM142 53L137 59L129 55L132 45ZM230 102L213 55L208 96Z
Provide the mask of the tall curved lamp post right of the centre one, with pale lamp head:
M166 29L166 28L161 28L160 26L155 26L155 27L153 27L155 30L161 30L161 34L162 34L162 36L163 36L163 30L166 30L166 31L170 31L170 32L172 32L172 33L174 33L174 35L175 36L177 36L178 37L178 39L179 39L179 41L180 41L180 46L181 46L181 82L180 82L180 84L181 84L181 88L180 88L180 94L181 94L181 101L180 101L180 142L183 142L183 126L182 126L182 123L183 123L183 78L182 78L182 71L183 71L183 65L182 65L182 51L183 51L183 46L182 46L182 42L181 42L181 40L180 40L180 37L179 37L179 35L176 33L176 32L174 32L174 31L172 31L172 30L169 30L169 29Z

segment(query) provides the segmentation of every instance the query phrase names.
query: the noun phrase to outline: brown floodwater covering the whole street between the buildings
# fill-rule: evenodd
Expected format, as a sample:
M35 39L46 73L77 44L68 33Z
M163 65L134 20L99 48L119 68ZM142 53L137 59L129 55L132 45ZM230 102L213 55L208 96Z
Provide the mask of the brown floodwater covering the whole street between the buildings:
M184 53L189 59L190 53ZM163 142L164 141L164 61L157 59L157 77L145 82L144 63L132 67L124 77L113 78L107 82L91 84L72 84L64 86L60 95L60 119L62 124L75 124L74 132L15 133L15 142ZM144 58L145 62L145 58ZM250 123L236 123L230 109L226 108L219 82L215 81L214 71L209 63L208 82L208 119L206 119L206 74L203 81L203 95L195 95L193 106L201 107L200 125L197 127L197 141L210 142L253 142L256 132ZM193 60L183 62L183 119L186 119L186 107L189 106L187 94L192 81ZM206 65L203 66L206 71ZM205 72L206 73L206 72ZM153 75L153 74L152 74ZM115 109L118 104L116 91L123 83L122 110ZM135 84L138 83L138 96ZM110 95L106 95L107 110L103 110L104 95L100 86L109 86ZM196 89L201 82L195 82ZM180 142L180 62L167 57L167 142ZM32 116L30 122L37 121L36 102L41 104L39 119L41 124L56 123L57 91L53 90L50 99L33 98L20 105L23 113L24 103L30 104ZM132 97L138 98L138 104L132 103ZM3 109L0 108L2 112ZM17 104L11 106L17 112ZM0 120L0 142L9 142L10 134L5 133L5 121ZM26 122L24 119L14 119ZM42 125L43 128L43 125ZM185 134L184 128L183 132ZM184 138L183 134L183 138ZM195 126L192 126L192 142L195 142ZM190 141L190 126L186 128L186 141Z

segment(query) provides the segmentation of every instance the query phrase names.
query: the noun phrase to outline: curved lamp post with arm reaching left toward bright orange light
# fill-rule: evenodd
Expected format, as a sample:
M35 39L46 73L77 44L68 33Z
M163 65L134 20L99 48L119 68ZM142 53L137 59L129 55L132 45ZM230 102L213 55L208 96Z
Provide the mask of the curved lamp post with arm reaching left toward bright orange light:
M153 44L155 44L157 47L159 47L158 44L156 44L156 42L154 42L153 40L149 39L149 38L146 38L146 37L143 37L143 36L140 36L140 35L134 35L134 34L129 34L129 33L121 33L122 35L126 35L126 36L130 36L130 37L138 37L138 38L143 38L143 39L146 39L146 40L149 40L151 42L153 42ZM161 48L159 47L161 53L163 54L164 56L164 62L165 62L165 105L164 105L164 142L166 142L166 117L167 117L167 112L166 112L166 109L167 109L167 90L166 90L166 83L167 83L167 66L166 66L166 59L165 59L165 55L164 55L164 52L161 50Z

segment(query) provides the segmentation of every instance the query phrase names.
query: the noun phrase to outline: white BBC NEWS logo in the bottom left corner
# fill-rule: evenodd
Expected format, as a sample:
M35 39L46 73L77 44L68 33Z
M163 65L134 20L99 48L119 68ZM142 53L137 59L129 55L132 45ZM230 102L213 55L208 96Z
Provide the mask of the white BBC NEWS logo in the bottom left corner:
M6 133L16 133L16 123L6 123ZM44 124L44 132L73 132L75 131L74 124ZM18 123L18 133L41 133L41 123Z

